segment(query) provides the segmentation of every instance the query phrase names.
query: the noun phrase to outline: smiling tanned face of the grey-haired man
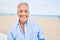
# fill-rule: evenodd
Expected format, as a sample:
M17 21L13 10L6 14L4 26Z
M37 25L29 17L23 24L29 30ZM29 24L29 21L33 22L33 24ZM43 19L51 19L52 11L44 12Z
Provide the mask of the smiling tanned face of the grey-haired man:
M27 5L20 5L17 11L19 20L21 23L25 23L28 20L29 11Z

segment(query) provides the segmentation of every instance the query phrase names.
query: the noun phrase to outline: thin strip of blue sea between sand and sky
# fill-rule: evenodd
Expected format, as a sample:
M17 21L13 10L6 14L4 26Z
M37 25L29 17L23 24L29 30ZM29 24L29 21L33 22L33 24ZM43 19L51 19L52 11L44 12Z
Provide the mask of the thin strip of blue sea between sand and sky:
M0 14L0 16L17 16L17 14ZM39 18L60 18L60 15L30 15Z

